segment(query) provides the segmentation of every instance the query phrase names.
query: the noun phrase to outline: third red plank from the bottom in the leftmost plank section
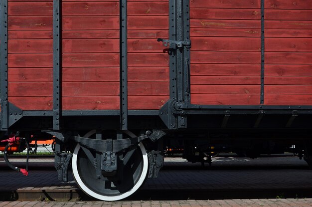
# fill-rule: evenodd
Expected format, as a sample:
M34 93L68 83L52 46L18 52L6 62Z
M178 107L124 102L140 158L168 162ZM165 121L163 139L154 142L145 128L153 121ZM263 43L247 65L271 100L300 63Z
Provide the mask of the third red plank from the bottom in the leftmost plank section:
M52 82L52 68L9 68L9 82Z

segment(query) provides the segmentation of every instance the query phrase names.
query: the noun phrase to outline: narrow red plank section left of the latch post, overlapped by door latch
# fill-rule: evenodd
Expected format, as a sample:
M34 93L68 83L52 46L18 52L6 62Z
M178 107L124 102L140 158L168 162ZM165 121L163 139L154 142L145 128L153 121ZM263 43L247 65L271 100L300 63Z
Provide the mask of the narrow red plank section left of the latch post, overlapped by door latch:
M169 99L168 0L129 0L128 108L159 109Z

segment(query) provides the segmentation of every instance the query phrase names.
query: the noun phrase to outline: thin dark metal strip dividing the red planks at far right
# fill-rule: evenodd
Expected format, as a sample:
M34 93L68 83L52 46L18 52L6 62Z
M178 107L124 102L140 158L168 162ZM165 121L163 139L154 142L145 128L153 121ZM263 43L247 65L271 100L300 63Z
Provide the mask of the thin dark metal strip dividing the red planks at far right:
M261 0L261 92L260 104L264 104L264 0Z

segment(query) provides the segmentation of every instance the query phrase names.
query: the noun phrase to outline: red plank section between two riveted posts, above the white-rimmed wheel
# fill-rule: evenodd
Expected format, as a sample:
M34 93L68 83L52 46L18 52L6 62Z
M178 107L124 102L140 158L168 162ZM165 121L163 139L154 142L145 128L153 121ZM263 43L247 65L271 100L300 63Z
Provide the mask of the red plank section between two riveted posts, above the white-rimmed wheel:
M64 110L119 110L119 13L119 0L63 0Z

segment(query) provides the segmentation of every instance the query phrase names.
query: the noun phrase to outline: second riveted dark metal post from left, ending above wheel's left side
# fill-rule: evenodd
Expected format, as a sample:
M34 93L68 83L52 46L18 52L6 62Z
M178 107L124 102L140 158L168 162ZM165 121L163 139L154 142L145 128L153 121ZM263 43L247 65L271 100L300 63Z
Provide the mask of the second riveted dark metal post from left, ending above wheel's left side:
M60 129L60 114L61 114L61 79L60 79L60 65L61 65L61 44L60 44L60 27L61 14L60 5L61 0L53 0L53 130Z

